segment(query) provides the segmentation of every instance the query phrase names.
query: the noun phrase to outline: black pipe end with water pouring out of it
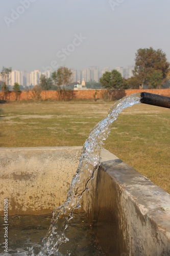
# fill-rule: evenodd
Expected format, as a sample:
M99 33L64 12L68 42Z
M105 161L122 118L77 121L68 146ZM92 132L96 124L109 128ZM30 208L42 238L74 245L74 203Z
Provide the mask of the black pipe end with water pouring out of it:
M140 97L141 103L170 109L170 97L145 92L140 93Z

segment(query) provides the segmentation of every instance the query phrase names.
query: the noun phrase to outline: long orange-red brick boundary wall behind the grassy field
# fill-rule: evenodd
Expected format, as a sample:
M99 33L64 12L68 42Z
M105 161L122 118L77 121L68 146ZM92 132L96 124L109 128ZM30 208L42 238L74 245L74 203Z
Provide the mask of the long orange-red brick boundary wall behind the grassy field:
M132 89L132 90L117 90L113 92L113 99L120 99L124 96L131 95L134 93L149 92L158 95L163 95L170 97L170 89ZM94 94L96 99L102 99L104 97L106 90L78 90L78 91L66 91L64 99L94 99ZM3 92L0 92L0 100L3 99ZM15 92L8 92L4 97L7 101L15 101ZM17 100L33 100L35 99L32 91L21 91L18 95ZM58 100L58 91L41 91L41 100Z

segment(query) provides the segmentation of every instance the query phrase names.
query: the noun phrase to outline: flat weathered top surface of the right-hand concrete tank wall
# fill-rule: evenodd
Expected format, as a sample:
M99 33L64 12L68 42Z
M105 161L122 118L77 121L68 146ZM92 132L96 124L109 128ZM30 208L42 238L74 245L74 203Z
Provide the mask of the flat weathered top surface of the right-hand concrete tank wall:
M170 195L120 159L101 163L101 169L137 205L141 215L168 230L170 239Z

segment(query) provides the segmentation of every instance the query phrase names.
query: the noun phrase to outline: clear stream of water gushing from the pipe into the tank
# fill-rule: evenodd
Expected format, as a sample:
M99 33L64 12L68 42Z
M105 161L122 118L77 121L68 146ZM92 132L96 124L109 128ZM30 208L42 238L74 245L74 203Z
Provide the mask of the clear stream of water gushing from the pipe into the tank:
M73 218L74 210L80 207L79 200L88 189L88 182L93 179L95 170L100 165L103 140L107 139L111 124L117 116L125 108L136 103L140 103L140 94L132 94L118 100L109 110L108 115L91 130L83 146L77 173L67 190L67 199L53 211L50 228L42 241L42 249L38 255L61 255L57 253L59 246L68 241L64 231L69 220Z

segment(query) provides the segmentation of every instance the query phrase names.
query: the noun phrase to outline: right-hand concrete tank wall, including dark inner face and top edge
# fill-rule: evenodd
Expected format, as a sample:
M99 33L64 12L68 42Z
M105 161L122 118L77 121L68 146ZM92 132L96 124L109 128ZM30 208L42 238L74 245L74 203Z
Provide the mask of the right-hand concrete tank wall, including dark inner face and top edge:
M92 218L106 254L170 255L168 193L120 159L101 163L96 183Z

